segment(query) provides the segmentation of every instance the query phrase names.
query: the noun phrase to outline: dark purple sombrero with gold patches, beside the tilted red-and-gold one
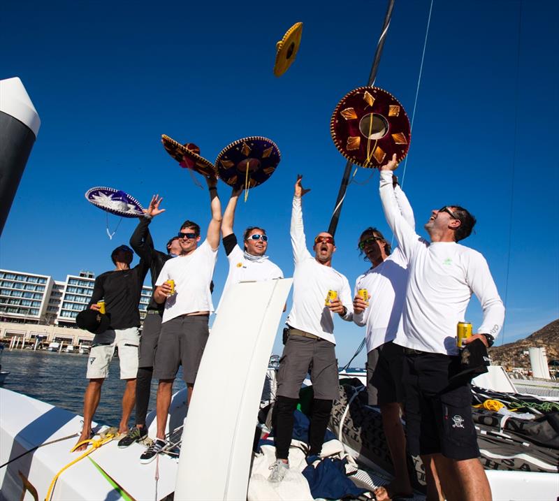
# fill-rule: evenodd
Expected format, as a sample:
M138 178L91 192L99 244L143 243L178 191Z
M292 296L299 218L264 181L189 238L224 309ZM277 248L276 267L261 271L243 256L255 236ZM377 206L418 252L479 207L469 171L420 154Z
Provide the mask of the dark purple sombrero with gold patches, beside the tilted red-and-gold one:
M273 140L251 136L226 146L217 155L215 165L219 178L229 186L253 188L268 180L281 158Z

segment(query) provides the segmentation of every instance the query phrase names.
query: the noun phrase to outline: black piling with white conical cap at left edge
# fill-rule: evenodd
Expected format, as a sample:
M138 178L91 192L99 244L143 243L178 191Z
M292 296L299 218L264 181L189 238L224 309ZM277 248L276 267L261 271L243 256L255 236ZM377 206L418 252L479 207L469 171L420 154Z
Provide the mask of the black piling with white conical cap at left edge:
M21 80L0 80L0 235L40 126Z

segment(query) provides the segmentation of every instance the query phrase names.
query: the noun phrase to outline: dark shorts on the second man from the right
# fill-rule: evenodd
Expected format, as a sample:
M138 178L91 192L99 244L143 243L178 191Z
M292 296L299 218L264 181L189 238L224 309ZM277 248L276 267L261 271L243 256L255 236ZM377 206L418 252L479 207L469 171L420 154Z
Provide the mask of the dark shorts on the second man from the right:
M367 354L367 393L369 405L404 401L402 369L404 350L392 341Z

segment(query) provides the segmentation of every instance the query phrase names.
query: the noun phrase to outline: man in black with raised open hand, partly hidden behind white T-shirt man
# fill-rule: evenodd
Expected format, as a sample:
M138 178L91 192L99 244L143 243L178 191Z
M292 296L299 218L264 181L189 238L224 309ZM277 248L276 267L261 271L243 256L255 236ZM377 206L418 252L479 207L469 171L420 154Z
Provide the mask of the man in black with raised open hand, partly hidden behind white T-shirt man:
M163 198L159 195L152 196L150 205L144 210L145 214L140 217L140 222L136 226L136 230L130 238L130 246L144 259L150 266L152 275L152 286L159 273L163 269L165 262L181 252L179 238L174 236L167 242L167 252L161 252L154 248L152 235L150 233L150 223L152 219L165 209L160 209L159 205ZM158 304L153 296L147 305L147 312L140 337L140 347L138 349L138 374L136 375L136 426L133 426L129 432L118 442L120 448L127 447L134 442L139 442L147 437L147 429L145 426L145 417L147 415L147 406L150 403L150 392L152 387L153 361L155 349L157 348L157 340L159 340L159 331L161 331L161 319L163 317L164 304Z

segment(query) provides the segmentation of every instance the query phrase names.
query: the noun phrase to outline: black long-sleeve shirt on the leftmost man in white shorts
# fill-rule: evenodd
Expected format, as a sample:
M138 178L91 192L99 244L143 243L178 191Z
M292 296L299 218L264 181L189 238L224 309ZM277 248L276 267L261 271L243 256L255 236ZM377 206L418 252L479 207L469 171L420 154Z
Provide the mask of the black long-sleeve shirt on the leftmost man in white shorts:
M138 304L149 269L145 259L140 259L140 263L134 268L107 271L95 279L89 306L101 299L105 300L110 328L126 329L140 326Z

